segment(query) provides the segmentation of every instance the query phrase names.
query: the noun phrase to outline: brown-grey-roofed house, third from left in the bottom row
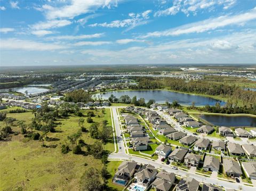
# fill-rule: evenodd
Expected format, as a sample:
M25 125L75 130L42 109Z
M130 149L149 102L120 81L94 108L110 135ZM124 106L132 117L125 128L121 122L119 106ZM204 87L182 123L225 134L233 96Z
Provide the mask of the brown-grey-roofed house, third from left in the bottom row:
M152 183L152 187L156 188L157 191L169 191L174 181L175 181L174 173L161 170L156 175L156 179Z

